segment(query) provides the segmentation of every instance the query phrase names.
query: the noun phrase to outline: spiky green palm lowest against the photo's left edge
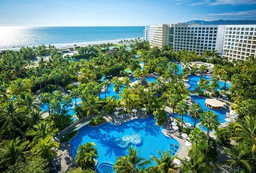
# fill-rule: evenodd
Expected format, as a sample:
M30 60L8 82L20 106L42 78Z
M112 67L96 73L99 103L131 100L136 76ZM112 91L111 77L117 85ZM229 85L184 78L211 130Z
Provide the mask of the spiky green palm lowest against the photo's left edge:
M23 152L26 149L29 141L21 142L20 138L6 141L5 146L0 148L1 153L1 164L6 167L14 165L19 157L25 157L26 154Z

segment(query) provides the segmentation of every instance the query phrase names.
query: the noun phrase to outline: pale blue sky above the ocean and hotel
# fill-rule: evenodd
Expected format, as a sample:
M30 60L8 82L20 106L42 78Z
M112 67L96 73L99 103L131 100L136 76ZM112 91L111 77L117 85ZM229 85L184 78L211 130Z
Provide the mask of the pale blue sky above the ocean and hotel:
M0 25L129 26L256 20L256 0L0 0Z

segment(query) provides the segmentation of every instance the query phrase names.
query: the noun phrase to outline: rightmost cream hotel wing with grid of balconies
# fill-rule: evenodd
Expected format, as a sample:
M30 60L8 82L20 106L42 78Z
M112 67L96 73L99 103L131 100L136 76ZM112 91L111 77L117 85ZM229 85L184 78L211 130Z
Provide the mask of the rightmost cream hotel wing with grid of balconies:
M256 25L226 25L223 37L223 56L228 60L255 58Z

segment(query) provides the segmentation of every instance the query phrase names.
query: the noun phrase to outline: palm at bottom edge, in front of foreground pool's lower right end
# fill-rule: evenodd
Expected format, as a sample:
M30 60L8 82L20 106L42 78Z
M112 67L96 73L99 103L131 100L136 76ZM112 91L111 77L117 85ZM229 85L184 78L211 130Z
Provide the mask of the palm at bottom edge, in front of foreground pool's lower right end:
M173 162L176 156L172 157L169 151L158 151L160 158L158 159L155 155L151 155L151 158L156 162L156 172L177 172L178 167Z

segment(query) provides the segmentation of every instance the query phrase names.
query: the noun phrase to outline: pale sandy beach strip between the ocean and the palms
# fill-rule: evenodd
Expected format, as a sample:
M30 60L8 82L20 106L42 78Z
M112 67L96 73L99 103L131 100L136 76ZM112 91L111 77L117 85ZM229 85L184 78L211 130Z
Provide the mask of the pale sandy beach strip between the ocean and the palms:
M55 48L69 48L69 47L74 47L76 46L81 46L81 47L85 47L85 46L89 46L89 45L102 45L102 44L108 44L108 43L112 43L112 44L118 44L119 41L121 40L134 40L134 39L138 39L138 38L120 38L120 39L114 39L114 40L98 40L98 41L82 41L82 42L69 42L69 43L60 43L60 44L50 44L51 46L54 46ZM141 40L144 40L144 38L140 38ZM49 44L44 44L46 47ZM124 45L124 43L123 43ZM22 47L38 47L41 45L30 45L30 46L20 46L20 47L9 47L9 48L0 48L0 51L3 50L20 50Z

